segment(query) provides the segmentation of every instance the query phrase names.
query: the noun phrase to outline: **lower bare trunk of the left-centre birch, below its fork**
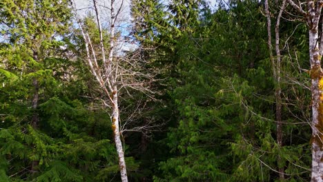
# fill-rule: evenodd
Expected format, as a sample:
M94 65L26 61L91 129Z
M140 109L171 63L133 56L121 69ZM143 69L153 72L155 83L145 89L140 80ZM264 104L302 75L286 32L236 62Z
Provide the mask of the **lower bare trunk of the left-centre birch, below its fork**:
M119 168L121 174L121 181L128 182L127 169L126 169L126 161L124 159L124 150L122 148L122 143L120 139L120 129L119 129L119 106L118 106L118 92L117 88L112 92L112 129L115 136L115 147L117 148L117 154L119 157Z

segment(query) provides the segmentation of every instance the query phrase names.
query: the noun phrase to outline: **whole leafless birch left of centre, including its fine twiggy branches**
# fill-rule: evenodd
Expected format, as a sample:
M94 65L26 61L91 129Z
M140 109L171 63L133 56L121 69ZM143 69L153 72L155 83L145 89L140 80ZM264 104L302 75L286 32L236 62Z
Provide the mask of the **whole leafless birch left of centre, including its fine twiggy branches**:
M148 97L151 97L153 92L148 89L148 85L153 81L153 77L150 74L139 71L138 68L142 65L140 51L126 55L120 55L122 54L121 52L116 52L118 43L124 40L121 40L119 32L116 31L116 22L121 19L120 16L122 8L124 8L124 1L121 1L121 3L119 2L120 5L117 6L115 0L110 0L109 7L99 5L97 0L93 0L92 3L95 19L97 21L97 29L99 30L99 45L94 45L94 41L82 25L81 19L78 17L76 11L75 17L77 17L79 29L85 43L86 64L95 77L101 94L104 95L104 99L102 99L104 105L110 108L110 119L114 132L115 146L119 157L121 181L128 181L124 148L121 142L121 138L123 138L122 132L148 130L150 126L137 126L130 129L125 126L128 121L124 124L121 123L119 106L120 90L125 90L127 94L130 94L128 89L139 90L148 95ZM102 27L100 8L106 8L110 12L108 37L104 37L107 33ZM106 50L106 45L104 43L106 38L109 40L108 50Z

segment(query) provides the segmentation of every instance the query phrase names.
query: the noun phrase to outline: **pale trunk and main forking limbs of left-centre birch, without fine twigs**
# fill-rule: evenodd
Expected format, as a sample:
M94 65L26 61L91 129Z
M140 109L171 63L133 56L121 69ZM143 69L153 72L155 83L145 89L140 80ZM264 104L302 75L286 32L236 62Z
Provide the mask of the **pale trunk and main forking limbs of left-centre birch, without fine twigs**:
M97 63L97 52L92 45L90 37L88 33L84 31L81 25L81 21L77 19L79 23L79 28L81 30L81 34L83 36L85 45L86 45L86 61L88 66L90 67L90 72L93 74L97 82L99 83L105 97L110 101L110 105L112 107L112 131L115 140L115 146L118 154L119 159L119 170L121 174L121 181L128 182L127 170L126 170L126 161L124 157L124 149L122 147L121 142L121 132L120 132L120 119L119 119L119 105L118 105L118 84L117 77L118 77L118 64L115 63L115 66L112 67L112 61L114 59L114 49L115 49L115 20L117 19L115 15L114 9L115 0L111 0L111 7L110 7L110 51L108 54L108 59L106 59L106 53L104 48L104 39L103 33L101 28L101 21L99 19L99 10L97 8L97 1L93 0L97 25L99 29L99 39L100 39L100 54L101 59L103 60L104 66L100 67ZM120 7L121 8L121 7ZM76 8L75 8L76 10ZM77 14L75 12L75 16ZM92 57L91 57L92 55ZM113 70L112 70L113 68Z

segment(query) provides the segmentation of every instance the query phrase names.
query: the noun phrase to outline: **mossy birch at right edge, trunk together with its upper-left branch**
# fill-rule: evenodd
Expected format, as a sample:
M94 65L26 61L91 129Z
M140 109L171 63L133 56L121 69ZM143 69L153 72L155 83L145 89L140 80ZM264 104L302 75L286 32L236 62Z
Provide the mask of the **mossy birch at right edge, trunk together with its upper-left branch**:
M311 93L312 93L312 172L311 181L323 181L323 71L321 57L323 52L323 31L319 30L320 17L323 1L308 0L295 3L287 0L297 12L304 16L309 27L309 61L311 70ZM305 10L303 9L305 8ZM323 28L323 26L322 26Z

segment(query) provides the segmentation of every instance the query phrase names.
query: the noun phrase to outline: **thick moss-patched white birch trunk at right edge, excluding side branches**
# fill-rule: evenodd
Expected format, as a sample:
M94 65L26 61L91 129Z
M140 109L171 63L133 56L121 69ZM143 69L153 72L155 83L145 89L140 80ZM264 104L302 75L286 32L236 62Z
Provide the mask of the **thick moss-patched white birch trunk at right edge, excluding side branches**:
M309 8L309 55L311 63L311 92L312 92L312 174L311 181L323 181L323 149L322 149L322 119L323 108L322 98L322 79L321 56L318 40L318 22L320 20L322 1L315 7L314 1L308 1Z

